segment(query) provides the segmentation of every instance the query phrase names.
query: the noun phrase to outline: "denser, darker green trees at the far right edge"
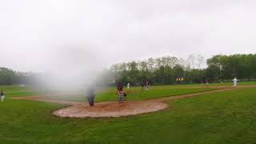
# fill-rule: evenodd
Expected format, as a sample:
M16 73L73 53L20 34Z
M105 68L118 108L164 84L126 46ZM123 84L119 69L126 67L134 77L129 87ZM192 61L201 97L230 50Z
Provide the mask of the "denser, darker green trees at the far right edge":
M210 79L256 78L256 54L215 55L207 60L207 66Z

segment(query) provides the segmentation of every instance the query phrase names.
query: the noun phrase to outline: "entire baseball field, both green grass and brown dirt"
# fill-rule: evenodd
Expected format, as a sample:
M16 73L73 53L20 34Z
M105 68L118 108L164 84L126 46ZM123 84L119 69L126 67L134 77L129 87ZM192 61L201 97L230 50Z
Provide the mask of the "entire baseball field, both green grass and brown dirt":
M115 87L46 95L0 86L2 143L254 143L256 83L131 87L119 104Z

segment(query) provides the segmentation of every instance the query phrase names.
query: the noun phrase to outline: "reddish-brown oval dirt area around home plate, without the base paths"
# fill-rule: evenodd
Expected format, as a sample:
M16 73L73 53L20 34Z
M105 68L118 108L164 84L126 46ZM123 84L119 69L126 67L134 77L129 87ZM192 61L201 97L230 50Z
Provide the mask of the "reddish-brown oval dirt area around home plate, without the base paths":
M166 107L168 105L165 102L157 101L101 102L94 106L82 103L54 111L54 115L68 118L122 117L150 113L166 109Z

